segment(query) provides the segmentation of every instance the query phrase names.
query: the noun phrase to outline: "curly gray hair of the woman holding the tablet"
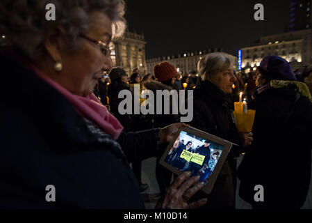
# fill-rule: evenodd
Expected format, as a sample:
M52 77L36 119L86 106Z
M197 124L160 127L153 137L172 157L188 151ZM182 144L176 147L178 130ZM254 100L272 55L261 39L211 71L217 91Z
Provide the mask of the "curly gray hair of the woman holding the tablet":
M46 5L56 7L56 20L46 20ZM44 54L47 33L60 33L69 51L78 48L79 35L89 30L89 15L105 13L113 24L113 35L122 36L126 27L123 0L1 0L0 35L6 44L18 49L30 59Z

